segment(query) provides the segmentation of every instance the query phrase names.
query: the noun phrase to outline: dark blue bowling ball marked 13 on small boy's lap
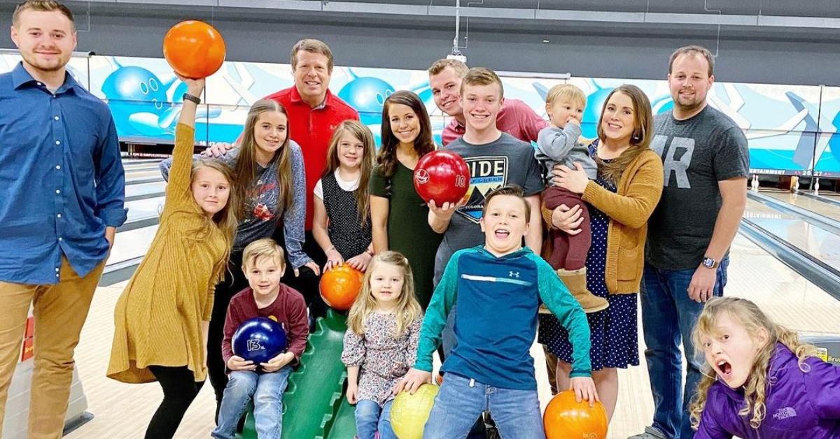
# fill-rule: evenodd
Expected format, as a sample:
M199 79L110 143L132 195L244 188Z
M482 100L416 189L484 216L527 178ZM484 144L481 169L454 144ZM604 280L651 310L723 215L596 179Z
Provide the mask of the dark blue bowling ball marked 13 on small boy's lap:
M286 350L286 331L276 321L255 317L236 328L232 343L234 353L245 361L268 363Z

